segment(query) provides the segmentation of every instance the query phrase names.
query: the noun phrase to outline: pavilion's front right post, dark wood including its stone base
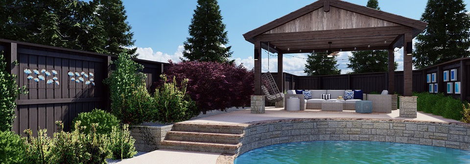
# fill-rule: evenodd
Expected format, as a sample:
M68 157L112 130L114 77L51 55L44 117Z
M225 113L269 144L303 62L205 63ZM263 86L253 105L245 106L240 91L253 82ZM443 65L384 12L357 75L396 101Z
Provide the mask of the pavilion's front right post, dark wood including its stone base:
M400 117L416 118L418 97L412 96L413 55L410 49L412 49L413 36L411 30L405 33L403 38L403 96L400 96Z

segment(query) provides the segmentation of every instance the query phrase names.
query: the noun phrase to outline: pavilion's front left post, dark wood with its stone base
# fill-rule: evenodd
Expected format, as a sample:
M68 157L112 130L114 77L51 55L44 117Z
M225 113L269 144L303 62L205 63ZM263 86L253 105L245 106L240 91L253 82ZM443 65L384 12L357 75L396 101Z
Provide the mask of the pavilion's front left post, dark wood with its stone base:
M255 95L251 96L251 113L264 113L264 94L261 93L261 42L255 42Z

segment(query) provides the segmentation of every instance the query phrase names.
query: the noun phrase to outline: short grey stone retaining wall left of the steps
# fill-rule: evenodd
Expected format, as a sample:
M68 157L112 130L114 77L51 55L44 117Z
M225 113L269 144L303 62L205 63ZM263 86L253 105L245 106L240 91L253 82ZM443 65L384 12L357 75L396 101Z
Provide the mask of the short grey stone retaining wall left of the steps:
M165 126L131 126L131 136L136 140L134 145L138 151L153 151L159 148L166 133L173 125Z

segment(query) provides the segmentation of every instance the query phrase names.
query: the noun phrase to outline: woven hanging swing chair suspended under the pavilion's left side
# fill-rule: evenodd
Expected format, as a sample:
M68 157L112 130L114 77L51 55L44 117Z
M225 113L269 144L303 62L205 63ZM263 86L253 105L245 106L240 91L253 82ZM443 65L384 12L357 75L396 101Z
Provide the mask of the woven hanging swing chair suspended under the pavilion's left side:
M261 75L261 90L266 96L268 102L281 102L284 101L284 94L279 91L273 75L269 72L269 42L268 42L268 72Z

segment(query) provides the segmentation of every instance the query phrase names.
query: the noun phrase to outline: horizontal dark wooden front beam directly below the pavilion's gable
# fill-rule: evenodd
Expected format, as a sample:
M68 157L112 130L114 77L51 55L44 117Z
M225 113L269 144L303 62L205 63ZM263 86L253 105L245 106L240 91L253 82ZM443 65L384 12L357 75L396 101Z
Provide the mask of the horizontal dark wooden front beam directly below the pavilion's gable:
M339 30L321 30L321 31L304 31L304 32L288 32L275 34L261 34L256 37L258 41L299 41L311 39L334 39L348 37L364 37L364 36L388 36L400 35L403 31L411 30L404 26L387 26L387 27L368 27L353 28Z

